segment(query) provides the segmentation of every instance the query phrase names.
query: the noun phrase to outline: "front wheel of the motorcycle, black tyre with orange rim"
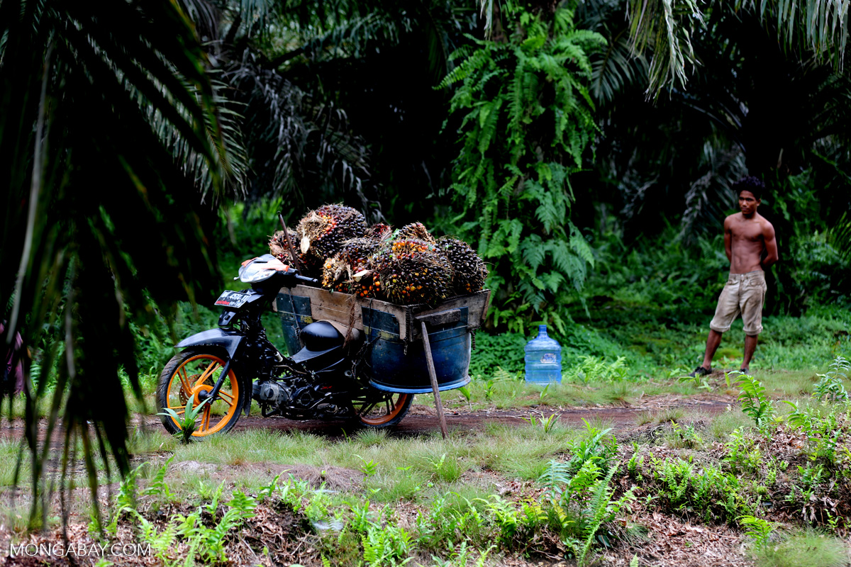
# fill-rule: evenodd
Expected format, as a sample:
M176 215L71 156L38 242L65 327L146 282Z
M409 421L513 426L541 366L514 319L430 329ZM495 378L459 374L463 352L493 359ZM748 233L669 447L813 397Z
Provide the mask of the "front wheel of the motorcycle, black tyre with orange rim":
M197 408L202 403L202 392L213 389L224 366L220 354L200 349L187 349L168 360L157 386L160 420L168 433L183 430L187 423L186 403L192 400L191 408ZM246 394L243 389L233 370L228 371L216 400L206 404L195 417L192 437L225 433L236 425ZM174 411L177 418L166 409Z

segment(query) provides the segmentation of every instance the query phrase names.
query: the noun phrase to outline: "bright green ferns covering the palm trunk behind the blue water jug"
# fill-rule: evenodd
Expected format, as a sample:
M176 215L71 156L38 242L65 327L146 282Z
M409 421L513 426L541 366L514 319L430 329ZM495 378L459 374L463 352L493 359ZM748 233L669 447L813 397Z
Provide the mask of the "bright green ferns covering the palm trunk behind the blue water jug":
M516 26L508 41L469 37L474 45L452 54L457 66L440 85L454 86L450 113L463 116L451 186L463 213L454 221L466 219L462 232L494 263L494 326L522 331L544 311L563 332L558 298L580 289L594 262L569 220L569 176L595 133L588 53L603 39L576 30L561 6L550 16L508 3L502 14Z

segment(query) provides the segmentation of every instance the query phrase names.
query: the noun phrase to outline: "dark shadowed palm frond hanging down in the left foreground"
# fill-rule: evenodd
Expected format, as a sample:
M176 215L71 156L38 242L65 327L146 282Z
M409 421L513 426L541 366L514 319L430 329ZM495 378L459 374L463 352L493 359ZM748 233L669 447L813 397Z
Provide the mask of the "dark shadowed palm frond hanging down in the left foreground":
M206 162L213 190L226 145L206 56L174 3L3 0L0 37L0 318L47 345L25 390L37 519L48 517L43 473L59 417L66 446L82 440L93 496L95 456L107 473L110 462L129 470L120 371L140 388L127 316L150 320L150 298L195 298L195 281L218 277L208 215L150 109ZM44 440L34 410L49 378Z

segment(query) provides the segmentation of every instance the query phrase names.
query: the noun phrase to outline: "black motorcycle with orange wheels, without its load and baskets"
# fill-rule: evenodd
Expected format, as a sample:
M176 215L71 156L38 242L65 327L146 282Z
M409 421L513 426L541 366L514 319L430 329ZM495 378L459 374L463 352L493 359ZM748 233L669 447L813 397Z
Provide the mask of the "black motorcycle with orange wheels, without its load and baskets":
M312 322L301 329L304 348L293 356L281 354L266 337L260 315L272 310L278 291L300 283L315 286L317 280L271 254L243 262L237 277L250 289L222 292L215 302L224 308L218 327L178 343L180 354L163 368L157 405L169 433L180 431L187 407L202 404L192 436L225 433L241 414L248 415L252 400L263 417L348 419L367 428L402 421L414 394L369 385L357 331L344 337L328 321Z

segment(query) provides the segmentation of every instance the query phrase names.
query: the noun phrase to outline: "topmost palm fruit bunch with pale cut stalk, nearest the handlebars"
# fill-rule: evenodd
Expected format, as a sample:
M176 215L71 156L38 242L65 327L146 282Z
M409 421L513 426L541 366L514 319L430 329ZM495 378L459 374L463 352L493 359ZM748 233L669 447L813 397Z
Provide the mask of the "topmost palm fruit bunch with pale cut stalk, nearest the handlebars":
M367 230L363 214L343 205L323 205L307 213L295 233L301 253L324 261L340 252L342 243L359 238Z

